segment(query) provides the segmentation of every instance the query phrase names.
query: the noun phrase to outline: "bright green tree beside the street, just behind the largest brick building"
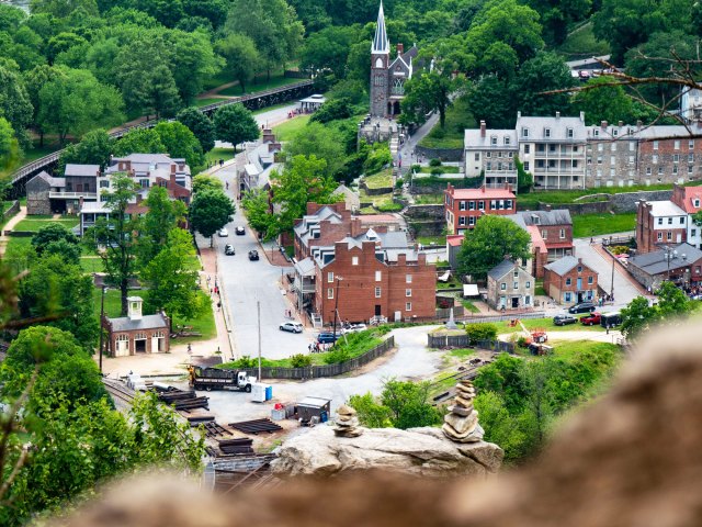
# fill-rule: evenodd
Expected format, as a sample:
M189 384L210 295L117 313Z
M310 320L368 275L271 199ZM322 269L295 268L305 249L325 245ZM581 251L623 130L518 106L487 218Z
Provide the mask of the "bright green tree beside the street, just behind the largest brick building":
M273 202L281 205L276 216L279 232L290 231L296 218L303 217L307 203L329 203L336 181L327 176L327 162L316 156L295 156L282 172L271 173Z

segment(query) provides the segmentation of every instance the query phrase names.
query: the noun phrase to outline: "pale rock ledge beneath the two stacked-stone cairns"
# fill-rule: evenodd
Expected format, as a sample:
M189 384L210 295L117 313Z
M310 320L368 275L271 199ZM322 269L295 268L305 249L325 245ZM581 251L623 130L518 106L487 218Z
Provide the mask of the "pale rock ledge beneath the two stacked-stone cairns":
M375 469L430 478L485 476L499 470L502 456L497 445L456 444L440 428L364 428L359 437L339 437L330 426L317 426L285 441L271 467L279 475Z

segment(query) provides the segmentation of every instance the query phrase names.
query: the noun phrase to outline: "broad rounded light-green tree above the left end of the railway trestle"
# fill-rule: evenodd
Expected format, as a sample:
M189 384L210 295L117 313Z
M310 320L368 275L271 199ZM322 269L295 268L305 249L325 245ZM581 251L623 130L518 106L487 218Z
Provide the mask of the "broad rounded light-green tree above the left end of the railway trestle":
M101 85L86 70L65 69L64 76L48 81L39 90L38 122L58 133L61 143L70 133L80 136L92 128L124 121L120 92Z

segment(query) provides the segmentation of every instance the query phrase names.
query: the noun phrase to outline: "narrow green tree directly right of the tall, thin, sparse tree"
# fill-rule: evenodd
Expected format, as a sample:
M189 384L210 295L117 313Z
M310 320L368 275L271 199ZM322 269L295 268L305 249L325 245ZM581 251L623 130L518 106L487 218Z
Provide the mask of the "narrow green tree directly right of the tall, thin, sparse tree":
M167 246L170 232L185 220L186 206L171 200L163 187L154 187L146 199L148 211L139 231L139 264L146 267Z

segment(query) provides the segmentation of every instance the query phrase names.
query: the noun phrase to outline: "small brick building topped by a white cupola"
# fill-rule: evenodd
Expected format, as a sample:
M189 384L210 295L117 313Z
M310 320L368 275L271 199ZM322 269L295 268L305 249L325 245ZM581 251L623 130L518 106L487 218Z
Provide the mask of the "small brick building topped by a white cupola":
M103 316L102 327L107 332L110 357L166 354L170 349L170 319L163 312L141 315L143 302L139 296L129 296L127 316Z

